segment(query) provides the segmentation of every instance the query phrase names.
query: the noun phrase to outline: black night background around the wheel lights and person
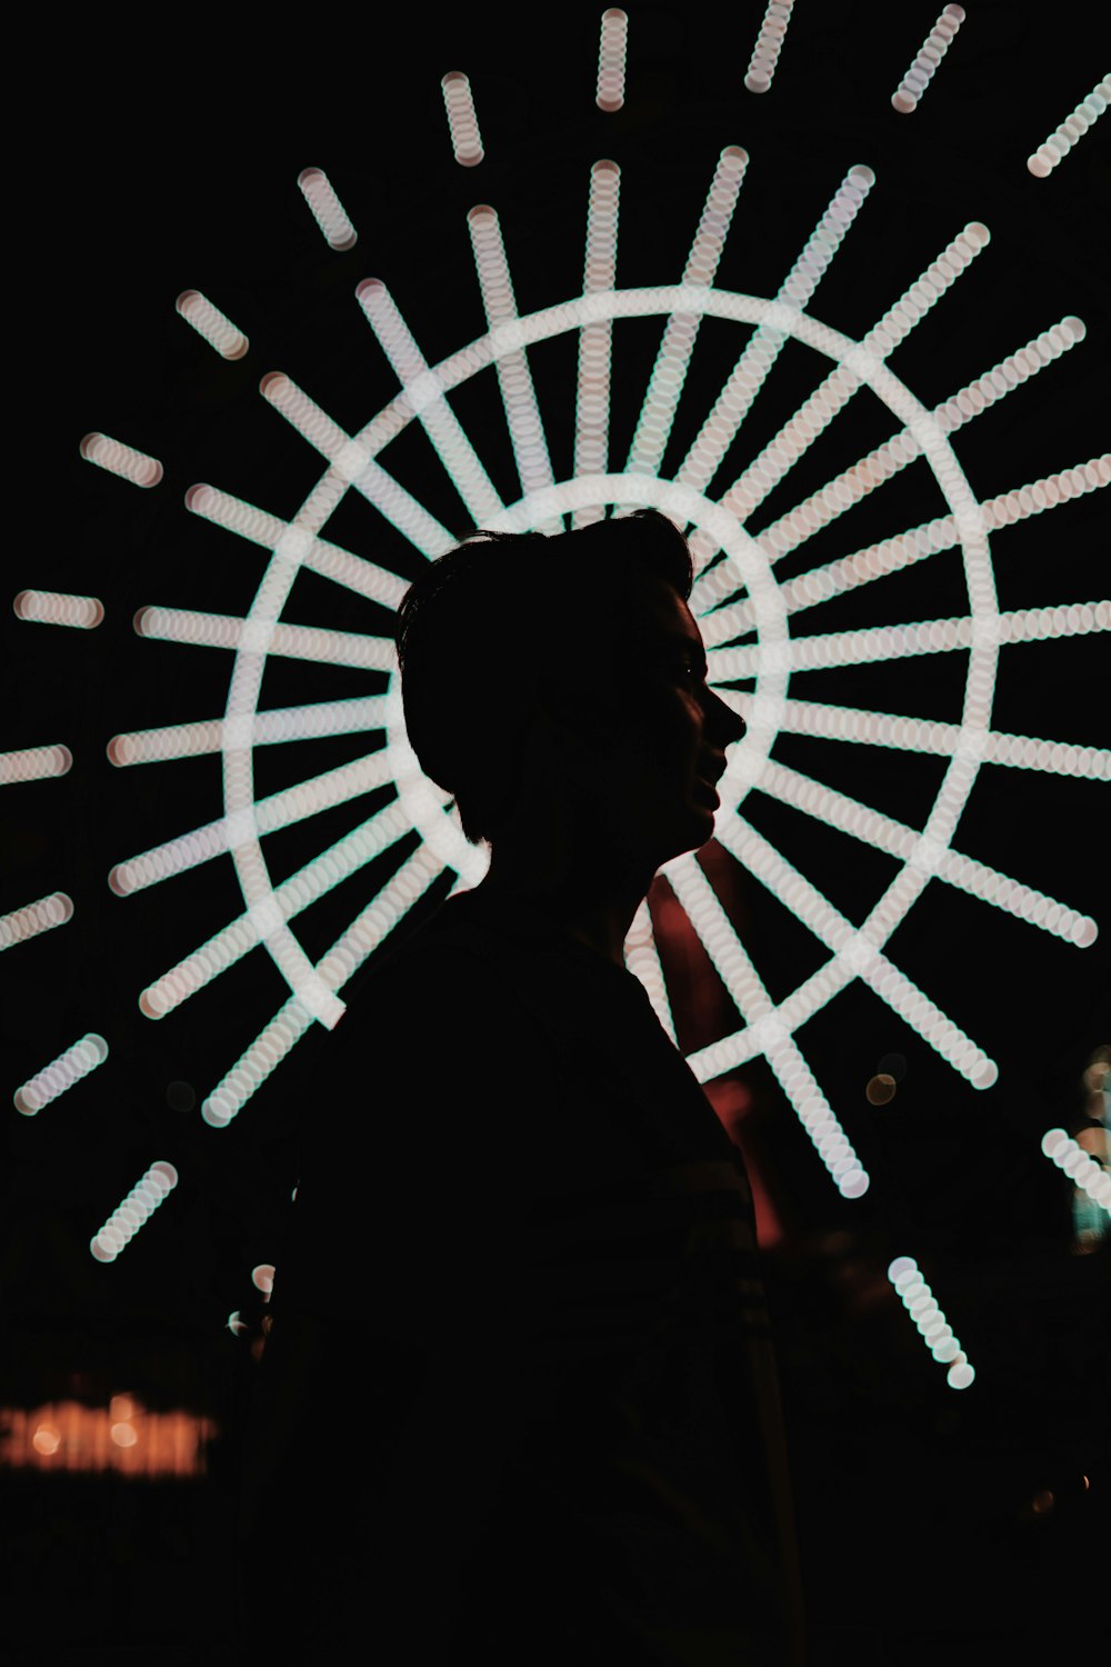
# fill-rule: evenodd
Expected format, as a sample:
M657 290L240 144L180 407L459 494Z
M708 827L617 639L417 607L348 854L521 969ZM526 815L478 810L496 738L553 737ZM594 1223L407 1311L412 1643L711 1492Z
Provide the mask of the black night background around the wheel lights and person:
M265 553L188 515L183 493L207 480L283 518L295 513L321 463L262 400L260 378L285 370L348 432L386 403L396 382L353 295L365 277L388 283L430 362L480 335L465 225L476 202L500 213L521 313L573 297L598 157L623 170L618 283L678 282L716 157L740 143L751 162L720 287L773 295L846 170L864 162L876 187L810 310L864 333L966 222L983 220L988 250L898 348L893 368L931 405L1058 318L1079 315L1086 340L963 428L954 447L981 498L1106 448L1108 135L1098 127L1048 180L1024 167L1098 80L1106 38L1084 25L1089 33L1061 43L1039 8L969 7L921 107L898 117L889 95L934 7L796 10L766 97L743 87L763 15L746 0L631 7L628 98L616 115L593 102L595 8L528 23L498 8L386 23L351 13L303 18L285 33L193 28L182 18L180 33L158 45L138 28L108 38L90 27L85 38L70 35L33 107L33 143L10 175L20 255L8 337L18 448L8 457L18 462L5 572L12 597L27 587L92 593L107 617L95 632L23 623L10 608L3 620L12 675L0 745L65 742L75 758L60 780L5 790L0 909L57 889L75 902L70 925L5 957L8 1094L87 1030L103 1034L112 1052L37 1119L8 1110L3 1399L40 1405L75 1394L103 1404L133 1390L152 1407L215 1417L223 1437L208 1479L185 1489L7 1477L17 1504L7 1520L22 1524L10 1550L33 1599L27 1659L80 1660L80 1649L108 1645L137 1660L210 1659L228 1647L228 1617L243 1597L227 1570L262 1320L250 1272L277 1255L296 1175L295 1117L280 1072L227 1130L207 1127L198 1107L286 992L255 952L162 1024L140 1015L138 992L237 915L242 899L227 857L133 897L112 895L113 862L217 818L222 788L215 755L117 770L105 745L120 730L223 712L230 657L142 640L132 617L155 602L248 608ZM478 168L451 157L440 90L450 68L471 78L486 150ZM296 187L306 165L326 170L348 208L360 233L353 250L325 245ZM187 287L247 332L243 360L222 362L175 313ZM658 338L658 320L615 332L615 468ZM725 323L703 325L661 473L685 455L740 340ZM565 478L573 338L536 348L531 367L555 475ZM811 355L790 343L716 492L815 382ZM493 377L461 388L456 410L511 500ZM849 412L758 512L756 528L891 432L869 395ZM90 467L78 455L90 430L158 457L162 483L140 492ZM453 533L468 528L423 435L408 432L383 462ZM328 537L415 573L420 558L353 498ZM993 537L1003 608L1106 593L1104 502L1089 493ZM783 573L943 512L919 462ZM966 608L959 557L949 552L796 615L793 628ZM313 575L298 578L288 617L386 628L373 605ZM951 722L964 663L949 653L808 673L791 692ZM263 705L383 685L373 673L278 662ZM1106 688L1099 635L1008 647L993 727L1108 745ZM260 748L258 792L363 750L358 735ZM798 737L783 737L776 757L913 825L944 770L941 758ZM388 797L275 835L267 845L275 882ZM746 813L854 920L894 874L891 860L761 795ZM1104 842L1103 783L1001 767L984 767L954 837L959 850L1106 929ZM298 919L310 954L331 944L408 849ZM790 994L820 949L755 882L736 874L730 885L771 994ZM440 895L443 885L430 904ZM1069 1187L1039 1140L1053 1125L1081 1125L1083 1070L1111 1040L1106 937L1078 950L931 882L889 952L999 1062L999 1082L969 1089L859 985L816 1015L800 1042L873 1175L864 1200L846 1204L830 1187L766 1067L741 1074L741 1140L783 1225L770 1280L816 1659L911 1662L941 1642L974 1650L984 1637L1076 1642L1083 1605L1078 1619L1058 1597L1081 1590L1078 1569L1108 1529L1108 1257L1106 1249L1071 1254ZM695 957L686 970L696 999L680 1014L680 1040L690 1049L721 1034L725 1015L708 967ZM903 1055L906 1074L894 1100L876 1109L864 1085L889 1054ZM98 1265L90 1235L158 1157L178 1167L177 1192L117 1264ZM373 1199L373 1180L365 1185ZM353 1197L351 1207L363 1202ZM896 1254L918 1257L976 1365L961 1395L889 1292L884 1269ZM225 1327L237 1309L248 1322L242 1337ZM336 1344L335 1410L355 1432L360 1427L366 1434L353 1347L353 1339ZM1039 1489L1056 1504L1034 1517ZM37 1605L63 1569L80 1604L43 1625Z

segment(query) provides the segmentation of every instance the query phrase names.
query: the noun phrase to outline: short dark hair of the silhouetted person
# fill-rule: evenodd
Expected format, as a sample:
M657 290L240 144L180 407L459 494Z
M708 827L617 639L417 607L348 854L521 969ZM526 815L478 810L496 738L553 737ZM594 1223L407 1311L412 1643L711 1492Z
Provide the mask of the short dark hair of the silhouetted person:
M583 602L605 622L646 577L690 597L686 538L650 508L553 537L475 532L406 590L395 632L405 727L471 842L496 839L513 808L553 648L593 652L575 645Z

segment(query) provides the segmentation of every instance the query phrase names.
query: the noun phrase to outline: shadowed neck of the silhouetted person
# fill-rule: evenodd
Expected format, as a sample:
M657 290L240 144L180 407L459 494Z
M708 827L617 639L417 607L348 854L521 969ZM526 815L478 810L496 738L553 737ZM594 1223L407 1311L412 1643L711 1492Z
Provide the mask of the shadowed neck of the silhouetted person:
M586 862L545 867L536 855L498 845L490 870L473 897L526 920L540 915L548 927L585 944L616 967L625 965L625 939L651 875L643 884L618 864L593 852Z

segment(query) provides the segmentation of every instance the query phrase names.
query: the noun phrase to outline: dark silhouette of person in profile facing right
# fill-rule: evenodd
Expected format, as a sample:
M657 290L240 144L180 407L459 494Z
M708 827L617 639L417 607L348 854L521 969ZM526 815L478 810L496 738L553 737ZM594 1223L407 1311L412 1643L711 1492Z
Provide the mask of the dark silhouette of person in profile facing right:
M745 1170L623 960L745 733L690 588L641 510L476 533L401 602L410 742L490 869L313 1039L247 1465L263 1655L803 1660Z

